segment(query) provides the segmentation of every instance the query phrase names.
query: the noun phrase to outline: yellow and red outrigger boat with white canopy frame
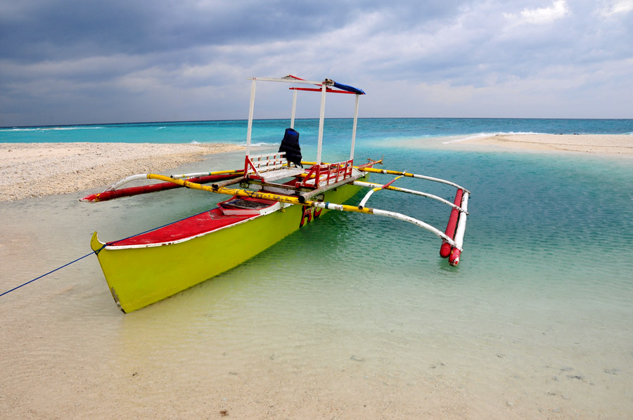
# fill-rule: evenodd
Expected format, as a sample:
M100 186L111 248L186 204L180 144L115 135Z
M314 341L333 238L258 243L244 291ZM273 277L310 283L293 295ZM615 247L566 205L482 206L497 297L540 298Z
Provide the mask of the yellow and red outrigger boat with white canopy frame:
M449 258L451 265L459 263L468 214L468 190L439 178L374 168L376 164L382 164L382 159L368 159L366 164L354 166L358 101L365 94L364 91L329 79L307 81L286 76L252 77L250 80L250 109L243 169L172 176L153 173L129 176L104 192L82 199L99 202L178 187L230 197L219 202L214 209L125 239L104 243L94 232L91 248L98 257L117 306L124 313L158 302L243 263L329 210L373 214L412 223L440 237L440 255ZM286 129L279 152L264 155L251 154L255 86L258 81L293 85L290 87L293 91L290 128ZM315 162L302 161L299 133L294 129L298 91L321 93ZM356 99L350 159L343 162L321 162L325 98L329 93L354 95ZM385 184L370 183L371 173L390 174L395 178ZM402 177L451 185L457 189L454 202L392 185ZM130 181L146 178L163 182L120 188ZM205 185L209 183L210 185ZM238 184L241 188L231 187ZM369 192L359 204L343 204L360 190L368 188ZM369 198L381 190L406 192L447 204L452 209L446 230L441 232L423 221L395 211L366 206Z

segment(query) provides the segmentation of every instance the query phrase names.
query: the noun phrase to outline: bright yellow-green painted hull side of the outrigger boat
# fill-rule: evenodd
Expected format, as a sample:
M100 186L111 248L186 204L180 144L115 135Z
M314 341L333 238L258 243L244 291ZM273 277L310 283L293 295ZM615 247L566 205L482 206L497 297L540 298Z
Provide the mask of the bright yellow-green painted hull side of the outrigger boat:
M369 176L369 175L368 175ZM368 177L366 176L366 177ZM342 203L360 190L344 185L325 192L324 201ZM124 313L161 301L236 267L300 228L305 211L290 205L181 242L146 247L103 247L91 239L115 302ZM322 210L323 212L327 210ZM319 209L316 209L319 215Z

